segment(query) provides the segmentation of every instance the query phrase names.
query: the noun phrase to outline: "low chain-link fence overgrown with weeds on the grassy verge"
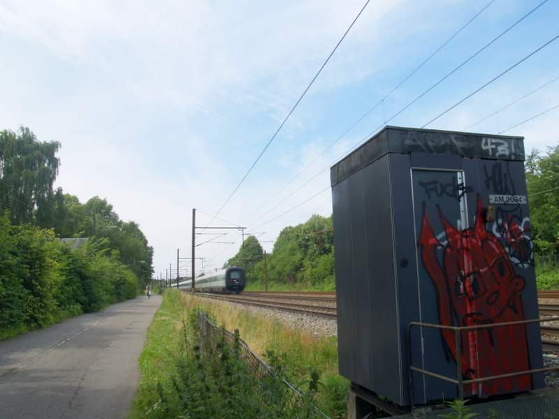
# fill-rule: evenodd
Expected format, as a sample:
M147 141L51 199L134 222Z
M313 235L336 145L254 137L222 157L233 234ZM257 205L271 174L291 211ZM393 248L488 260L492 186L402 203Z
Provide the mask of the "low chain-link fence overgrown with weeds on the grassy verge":
M239 337L238 330L234 333L220 328L213 323L208 314L199 311L198 326L201 342L200 350L203 355L215 355L219 346L228 345L238 359L246 366L248 375L252 378L247 388L256 394L256 401L261 404L261 410L266 412L263 418L300 418L300 419L328 419L325 413L314 404L312 393L306 393L296 388L281 375L266 364Z

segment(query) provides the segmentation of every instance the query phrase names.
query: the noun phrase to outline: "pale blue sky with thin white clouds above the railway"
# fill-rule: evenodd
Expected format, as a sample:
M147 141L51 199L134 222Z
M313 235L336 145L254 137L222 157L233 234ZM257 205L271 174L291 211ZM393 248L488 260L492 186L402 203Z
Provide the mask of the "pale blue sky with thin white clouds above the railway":
M139 223L165 276L177 249L190 256L192 208L197 226L212 220L364 3L0 0L0 129L60 142L56 186ZM212 226L266 232L272 251L285 226L331 214L328 168L385 122L423 126L559 35L548 0L392 118L542 3L494 0L340 138L488 3L371 0ZM427 128L463 131L558 77L559 40ZM496 134L555 105L559 80L467 131ZM544 152L558 121L559 108L504 133ZM238 251L238 231L224 232L215 240L235 244L196 247L197 272Z

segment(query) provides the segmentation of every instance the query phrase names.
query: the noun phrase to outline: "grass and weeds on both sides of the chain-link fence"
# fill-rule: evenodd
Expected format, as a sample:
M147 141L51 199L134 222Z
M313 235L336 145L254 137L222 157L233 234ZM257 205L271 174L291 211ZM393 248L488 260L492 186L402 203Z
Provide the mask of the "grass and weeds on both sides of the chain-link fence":
M202 361L198 359L201 355L196 348L194 326L198 309L210 313L215 322L224 325L227 330L238 329L240 337L255 353L261 355L275 372L310 394L328 416L346 416L345 397L349 383L337 374L335 338L312 337L227 304L167 290L147 332L145 348L140 356L140 389L129 419L263 417L256 409L262 395L254 394L251 387L254 378L243 372L242 364L238 365L233 360L231 364L224 365L222 349L219 349L222 351L217 354L219 356ZM230 360L231 353L226 352L225 357ZM220 375L228 369L236 371L235 381L228 381L231 376ZM221 385L217 385L216 381L222 381ZM272 382L270 385L273 388L279 383ZM294 417L286 413L286 407L282 406L285 403L279 388L267 397L277 397L278 410L271 409L265 417ZM212 404L216 407L221 406L221 413L217 416L208 404L210 400L214 400ZM230 408L227 400L233 403ZM222 414L224 411L226 415Z

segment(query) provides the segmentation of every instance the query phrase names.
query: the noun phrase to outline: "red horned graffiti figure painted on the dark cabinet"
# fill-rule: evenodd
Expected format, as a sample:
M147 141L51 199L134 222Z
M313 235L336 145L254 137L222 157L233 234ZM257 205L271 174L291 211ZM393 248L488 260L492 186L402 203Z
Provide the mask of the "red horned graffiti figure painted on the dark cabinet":
M427 212L421 226L421 258L435 284L442 325L484 325L524 320L521 291L525 281L514 272L507 251L486 230L481 200L475 226L454 228L439 214L447 236L443 264L437 260L437 240ZM453 318L456 321L453 321ZM444 330L444 341L456 360L454 332ZM530 369L525 325L462 332L462 374L465 379L483 378ZM488 396L530 390L530 376L502 378L470 385L472 395Z

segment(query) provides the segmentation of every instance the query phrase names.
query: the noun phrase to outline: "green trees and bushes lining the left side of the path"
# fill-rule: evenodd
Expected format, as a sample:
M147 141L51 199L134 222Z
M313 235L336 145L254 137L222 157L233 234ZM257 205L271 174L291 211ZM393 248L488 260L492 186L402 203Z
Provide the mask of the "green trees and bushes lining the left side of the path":
M0 131L0 339L135 297L151 279L138 224L53 189L59 147Z

